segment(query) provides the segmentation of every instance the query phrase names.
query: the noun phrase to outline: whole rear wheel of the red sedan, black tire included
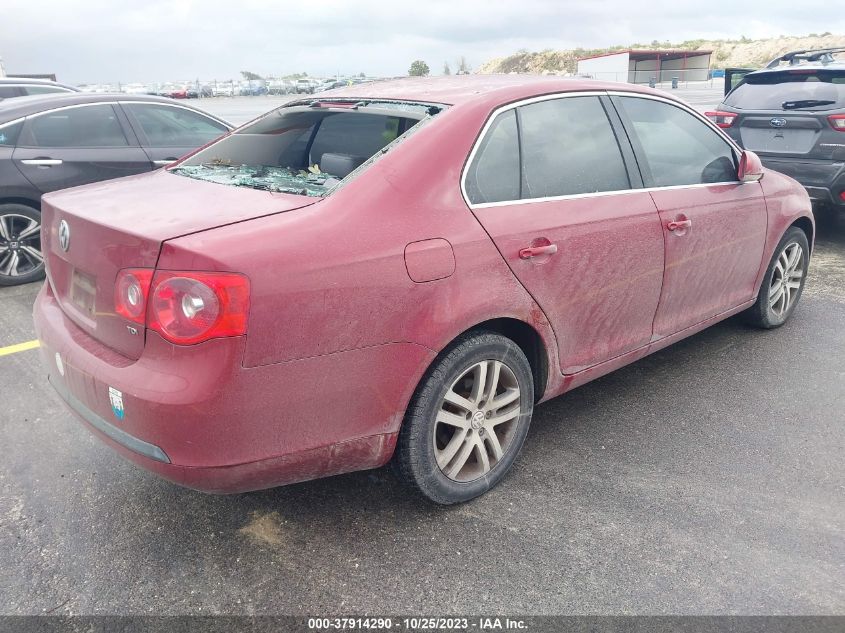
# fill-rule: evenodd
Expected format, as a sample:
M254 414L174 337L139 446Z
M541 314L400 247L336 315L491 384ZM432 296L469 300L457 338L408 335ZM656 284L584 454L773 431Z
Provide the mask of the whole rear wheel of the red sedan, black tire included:
M429 500L461 503L487 492L513 464L531 423L534 380L509 338L459 338L423 378L399 433L400 477Z

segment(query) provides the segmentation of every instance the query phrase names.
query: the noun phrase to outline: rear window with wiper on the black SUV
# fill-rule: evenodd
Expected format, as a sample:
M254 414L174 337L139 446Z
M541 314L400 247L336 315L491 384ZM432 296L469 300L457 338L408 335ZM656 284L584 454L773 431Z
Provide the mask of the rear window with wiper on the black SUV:
M800 102L807 105L802 108ZM845 108L845 71L796 68L746 75L725 97L725 105L738 110Z

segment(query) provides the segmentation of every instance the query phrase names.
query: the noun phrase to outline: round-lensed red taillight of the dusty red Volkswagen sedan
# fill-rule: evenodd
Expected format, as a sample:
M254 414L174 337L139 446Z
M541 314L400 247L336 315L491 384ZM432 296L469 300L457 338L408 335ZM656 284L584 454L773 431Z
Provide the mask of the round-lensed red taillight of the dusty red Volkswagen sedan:
M117 276L115 310L179 345L240 336L246 333L249 279L236 273L123 270Z

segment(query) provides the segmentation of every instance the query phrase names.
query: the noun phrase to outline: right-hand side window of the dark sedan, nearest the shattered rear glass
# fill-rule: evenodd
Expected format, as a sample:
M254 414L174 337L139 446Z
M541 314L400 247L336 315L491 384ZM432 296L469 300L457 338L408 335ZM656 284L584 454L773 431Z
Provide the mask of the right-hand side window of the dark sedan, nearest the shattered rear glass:
M199 147L229 131L222 123L185 108L147 103L123 107L135 115L147 147Z

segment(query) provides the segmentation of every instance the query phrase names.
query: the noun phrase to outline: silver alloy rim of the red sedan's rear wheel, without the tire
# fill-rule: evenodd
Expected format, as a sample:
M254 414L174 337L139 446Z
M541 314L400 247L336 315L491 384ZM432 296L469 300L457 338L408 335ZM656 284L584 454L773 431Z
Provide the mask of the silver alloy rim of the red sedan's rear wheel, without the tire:
M434 424L434 455L449 479L486 475L513 444L521 409L514 372L498 360L466 369L441 401Z

